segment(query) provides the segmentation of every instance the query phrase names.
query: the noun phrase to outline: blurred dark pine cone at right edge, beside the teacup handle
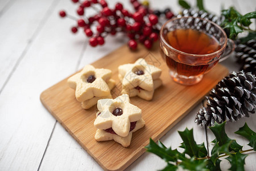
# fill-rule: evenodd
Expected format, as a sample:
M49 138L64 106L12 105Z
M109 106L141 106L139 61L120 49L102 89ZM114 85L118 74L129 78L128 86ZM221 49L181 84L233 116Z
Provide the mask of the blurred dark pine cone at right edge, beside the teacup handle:
M241 70L256 75L256 39L245 44L238 44L235 48L235 58L242 64Z

